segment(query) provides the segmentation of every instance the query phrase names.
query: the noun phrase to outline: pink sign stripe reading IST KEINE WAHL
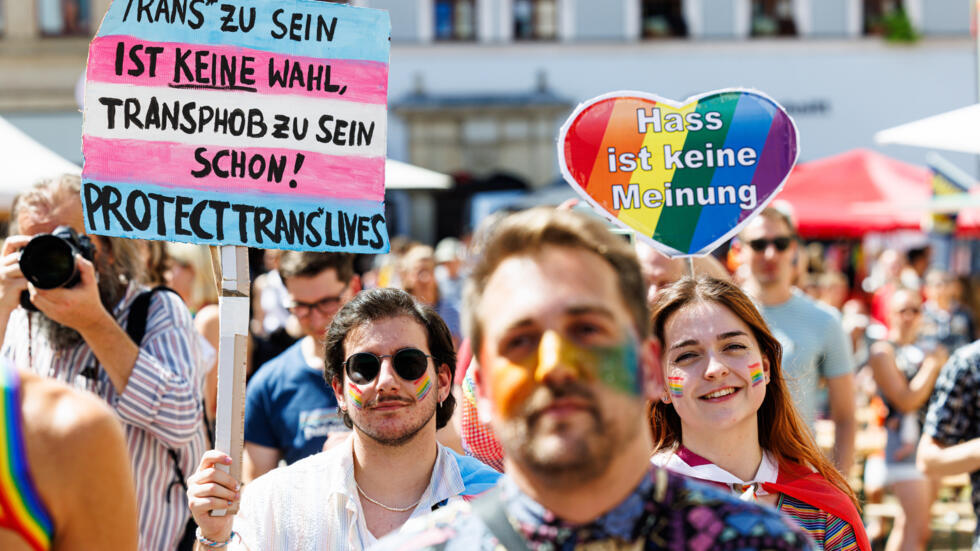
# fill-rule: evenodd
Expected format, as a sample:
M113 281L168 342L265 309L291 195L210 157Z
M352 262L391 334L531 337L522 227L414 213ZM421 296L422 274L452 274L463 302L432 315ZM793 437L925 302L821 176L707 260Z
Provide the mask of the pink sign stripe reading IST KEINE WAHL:
M155 61L147 53L154 52L152 48L160 48L155 54ZM178 49L182 60L180 63ZM198 53L201 53L201 57L198 57ZM138 62L134 61L134 56ZM246 67L243 61L245 56L253 59L247 63L247 67L252 69L250 75L242 74L242 69ZM131 71L136 74L131 74ZM242 82L243 76L248 82ZM285 56L237 46L146 42L131 36L104 36L93 40L88 56L87 79L137 86L251 89L261 94L330 98L357 103L384 104L388 99L386 63Z

